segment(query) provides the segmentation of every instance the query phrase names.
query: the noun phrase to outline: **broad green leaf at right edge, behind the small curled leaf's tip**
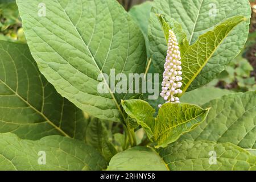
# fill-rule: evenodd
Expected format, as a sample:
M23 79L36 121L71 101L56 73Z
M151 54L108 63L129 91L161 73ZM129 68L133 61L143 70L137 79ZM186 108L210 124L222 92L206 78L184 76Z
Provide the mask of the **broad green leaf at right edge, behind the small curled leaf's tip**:
M210 101L207 119L180 140L230 142L256 149L256 92L236 93Z

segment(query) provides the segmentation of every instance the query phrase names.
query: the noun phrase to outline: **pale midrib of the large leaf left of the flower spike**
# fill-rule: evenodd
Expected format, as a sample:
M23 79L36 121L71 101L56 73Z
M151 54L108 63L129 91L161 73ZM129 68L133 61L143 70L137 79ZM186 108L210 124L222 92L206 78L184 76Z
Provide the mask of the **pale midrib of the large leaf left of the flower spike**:
M123 121L125 121L125 116L123 115L123 112L122 112L122 110L121 110L121 107L119 106L119 104L118 104L118 102L117 102L117 100L116 100L116 98L115 98L115 96L114 96L112 90L110 89L109 85L107 84L106 79L105 79L103 73L101 72L100 67L98 67L97 62L96 62L96 60L94 59L94 56L92 55L92 52L90 51L89 47L88 47L87 44L85 43L85 41L84 41L84 39L82 38L80 32L77 30L76 26L73 24L73 22L72 22L71 19L69 18L69 15L68 15L67 12L65 11L65 9L61 6L59 0L57 0L57 2L59 3L60 7L63 9L63 11L64 11L65 15L67 16L67 18L69 19L69 22L71 22L72 26L75 28L75 31L77 32L77 34L79 35L80 39L82 40L82 43L84 43L84 46L88 49L88 52L89 52L89 54L90 54L90 57L92 58L94 64L96 65L96 67L97 67L97 69L98 69L98 72L100 72L100 74L101 74L101 76L102 76L102 78L103 78L103 80L104 80L104 84L105 84L106 86L108 86L109 93L110 93L110 95L112 96L113 101L115 102L115 105L117 106L119 112L121 113L121 115L122 115L122 117L123 117Z

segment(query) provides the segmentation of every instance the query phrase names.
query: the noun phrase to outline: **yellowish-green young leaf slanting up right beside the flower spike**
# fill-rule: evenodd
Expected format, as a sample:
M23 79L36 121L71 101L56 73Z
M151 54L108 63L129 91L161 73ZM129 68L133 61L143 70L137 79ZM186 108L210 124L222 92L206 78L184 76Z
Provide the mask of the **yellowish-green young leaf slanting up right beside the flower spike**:
M183 70L183 86L181 90L183 90L183 93L191 85L192 81L195 80L196 76L199 75L233 28L244 20L243 16L230 18L214 28L213 31L199 36L197 42L188 47L181 58Z

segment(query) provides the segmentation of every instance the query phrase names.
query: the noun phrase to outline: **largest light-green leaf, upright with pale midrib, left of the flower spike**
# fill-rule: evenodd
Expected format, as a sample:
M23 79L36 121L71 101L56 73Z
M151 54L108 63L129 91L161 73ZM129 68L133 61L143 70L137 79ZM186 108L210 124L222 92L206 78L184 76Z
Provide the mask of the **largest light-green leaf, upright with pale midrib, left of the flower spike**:
M42 2L46 16L38 15ZM146 47L140 28L123 7L115 0L17 4L32 56L57 92L97 118L124 120L119 104L130 94L113 93L104 73L110 75L112 68L115 75L144 72ZM98 86L108 93L98 92Z

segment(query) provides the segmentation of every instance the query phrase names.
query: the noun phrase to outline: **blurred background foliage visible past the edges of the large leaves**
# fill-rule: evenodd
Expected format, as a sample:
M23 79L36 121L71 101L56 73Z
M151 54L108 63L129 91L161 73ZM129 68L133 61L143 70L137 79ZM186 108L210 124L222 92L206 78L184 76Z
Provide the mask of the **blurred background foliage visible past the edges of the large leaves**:
M117 0L127 11L146 0ZM236 92L256 90L256 2L251 3L250 33L245 47L226 70L207 86ZM15 0L0 0L0 40L26 43Z

